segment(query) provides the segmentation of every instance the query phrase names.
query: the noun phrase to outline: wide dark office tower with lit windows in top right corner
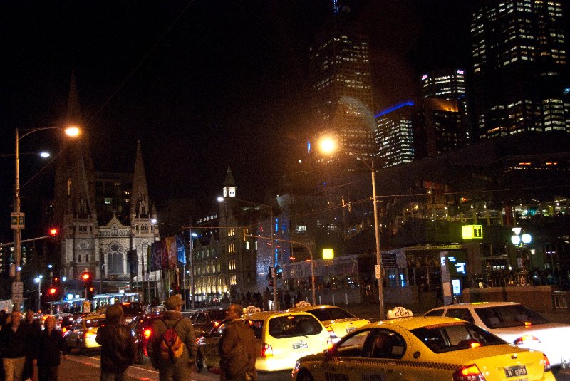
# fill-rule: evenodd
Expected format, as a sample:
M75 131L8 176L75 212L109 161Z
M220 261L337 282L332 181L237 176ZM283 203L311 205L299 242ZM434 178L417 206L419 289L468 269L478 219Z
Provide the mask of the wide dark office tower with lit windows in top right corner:
M563 22L561 0L482 1L471 24L480 137L569 132Z

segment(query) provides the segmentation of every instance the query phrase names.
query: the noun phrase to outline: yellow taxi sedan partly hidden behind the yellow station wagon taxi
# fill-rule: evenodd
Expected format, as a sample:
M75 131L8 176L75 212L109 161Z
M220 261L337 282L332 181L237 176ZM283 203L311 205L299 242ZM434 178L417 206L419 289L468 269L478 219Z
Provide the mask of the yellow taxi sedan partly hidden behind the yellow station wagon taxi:
M306 303L298 304L296 307L290 308L289 311L303 311L315 315L333 338L342 338L347 333L356 330L356 328L370 323L370 321L357 318L352 313L337 306L311 306L311 304Z

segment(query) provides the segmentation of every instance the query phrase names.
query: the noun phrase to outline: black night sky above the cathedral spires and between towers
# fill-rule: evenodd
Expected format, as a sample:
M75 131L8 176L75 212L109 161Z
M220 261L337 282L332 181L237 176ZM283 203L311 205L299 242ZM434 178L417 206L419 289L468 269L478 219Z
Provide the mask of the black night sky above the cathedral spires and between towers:
M430 68L468 65L468 4L352 1L371 40L373 111L416 95ZM60 122L73 69L95 169L133 171L140 139L152 199L214 203L230 165L239 197L261 200L304 148L309 43L327 12L325 0L2 1L0 153L14 152L16 127ZM0 160L4 229L14 160ZM21 157L22 183L35 160ZM24 195L51 194L51 170Z

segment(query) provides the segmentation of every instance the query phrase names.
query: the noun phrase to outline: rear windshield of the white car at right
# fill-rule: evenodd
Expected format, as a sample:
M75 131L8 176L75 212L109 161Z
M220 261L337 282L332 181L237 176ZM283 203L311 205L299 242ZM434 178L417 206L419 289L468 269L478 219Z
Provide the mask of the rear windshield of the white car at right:
M475 308L475 313L490 329L549 323L549 320L522 304Z

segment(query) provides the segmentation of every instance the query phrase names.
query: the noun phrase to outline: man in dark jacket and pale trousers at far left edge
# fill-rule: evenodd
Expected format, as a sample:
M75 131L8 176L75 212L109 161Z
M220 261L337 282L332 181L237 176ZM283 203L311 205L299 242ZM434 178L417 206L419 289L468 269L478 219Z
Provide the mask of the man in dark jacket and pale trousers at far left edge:
M13 310L11 322L0 331L0 343L4 349L2 365L6 381L21 381L28 350L28 329L21 324L22 313Z

